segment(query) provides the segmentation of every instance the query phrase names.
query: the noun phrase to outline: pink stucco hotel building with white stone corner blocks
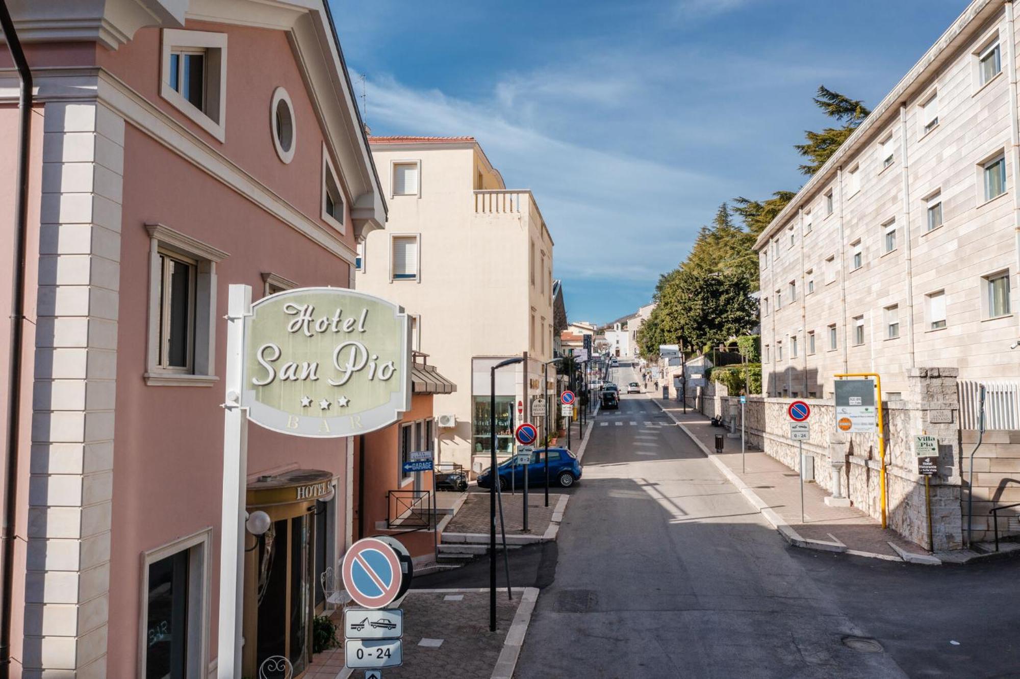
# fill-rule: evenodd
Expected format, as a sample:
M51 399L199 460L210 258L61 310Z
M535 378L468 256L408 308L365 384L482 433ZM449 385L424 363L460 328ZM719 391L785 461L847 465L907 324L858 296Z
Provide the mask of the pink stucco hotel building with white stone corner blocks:
M350 286L386 220L340 45L321 0L8 4L35 79L11 676L211 676L226 286ZM17 119L4 48L4 271ZM276 529L246 568L246 676L307 663L352 455L251 427L248 504Z

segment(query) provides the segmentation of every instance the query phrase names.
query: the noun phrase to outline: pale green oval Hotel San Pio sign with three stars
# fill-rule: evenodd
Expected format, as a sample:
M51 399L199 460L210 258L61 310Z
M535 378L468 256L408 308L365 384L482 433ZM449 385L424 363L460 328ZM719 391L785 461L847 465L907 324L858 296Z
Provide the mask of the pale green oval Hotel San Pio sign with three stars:
M410 410L410 330L397 305L340 288L262 298L245 319L241 405L267 429L340 437Z

